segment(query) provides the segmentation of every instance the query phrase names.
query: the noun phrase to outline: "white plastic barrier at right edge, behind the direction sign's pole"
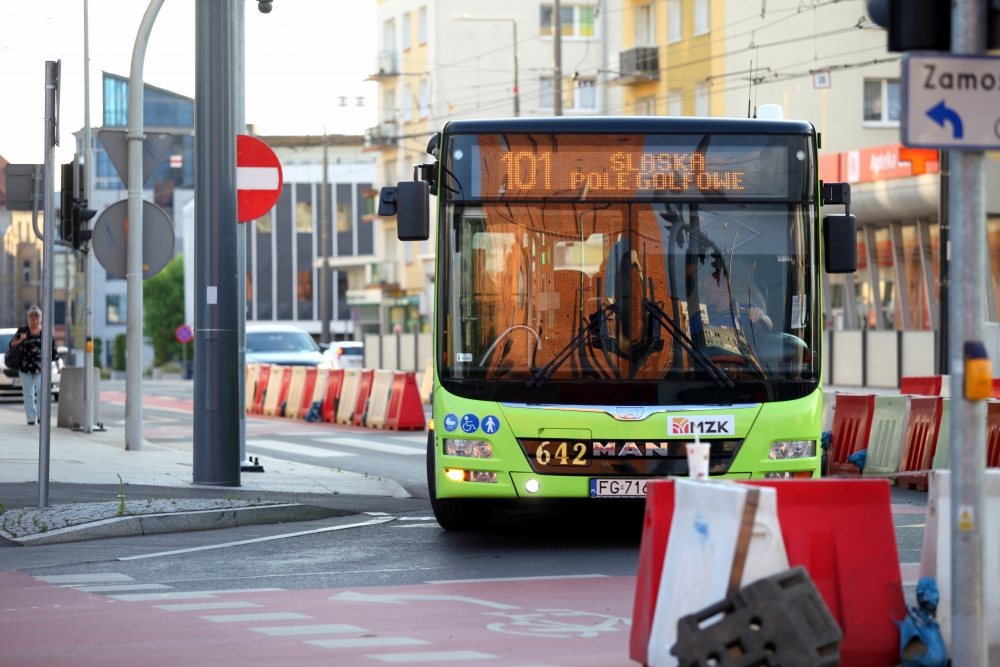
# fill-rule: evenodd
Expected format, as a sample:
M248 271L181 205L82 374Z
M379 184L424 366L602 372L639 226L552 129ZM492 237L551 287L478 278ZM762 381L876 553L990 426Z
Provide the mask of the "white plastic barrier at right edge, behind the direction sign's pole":
M920 555L920 576L937 579L941 601L937 619L941 636L951 654L951 472L935 470L927 494L927 521ZM984 479L986 507L980 518L983 563L986 567L983 598L990 655L1000 655L1000 470L987 470ZM994 664L993 662L990 663Z

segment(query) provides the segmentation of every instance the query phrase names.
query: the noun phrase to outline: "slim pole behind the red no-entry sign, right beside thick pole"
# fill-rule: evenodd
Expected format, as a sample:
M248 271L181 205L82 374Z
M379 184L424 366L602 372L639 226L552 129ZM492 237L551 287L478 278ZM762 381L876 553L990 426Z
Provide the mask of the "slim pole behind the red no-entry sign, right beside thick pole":
M236 132L246 132L246 4L233 2L233 55L235 60L234 108ZM239 340L240 395L237 405L240 413L240 465L247 460L247 232L251 223L237 225L236 275L237 279L237 337Z

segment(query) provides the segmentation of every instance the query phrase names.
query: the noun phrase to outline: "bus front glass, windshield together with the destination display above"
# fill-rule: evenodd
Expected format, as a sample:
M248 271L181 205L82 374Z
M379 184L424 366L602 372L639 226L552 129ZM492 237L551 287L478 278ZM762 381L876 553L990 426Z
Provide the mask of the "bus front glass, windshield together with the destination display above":
M451 139L442 377L816 379L807 137Z

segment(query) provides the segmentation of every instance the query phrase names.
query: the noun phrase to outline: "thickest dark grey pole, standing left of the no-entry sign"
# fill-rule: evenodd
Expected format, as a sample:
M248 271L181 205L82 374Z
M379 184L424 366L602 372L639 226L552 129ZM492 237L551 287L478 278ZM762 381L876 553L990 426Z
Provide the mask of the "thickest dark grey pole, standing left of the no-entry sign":
M240 484L236 2L195 3L193 477L216 486Z

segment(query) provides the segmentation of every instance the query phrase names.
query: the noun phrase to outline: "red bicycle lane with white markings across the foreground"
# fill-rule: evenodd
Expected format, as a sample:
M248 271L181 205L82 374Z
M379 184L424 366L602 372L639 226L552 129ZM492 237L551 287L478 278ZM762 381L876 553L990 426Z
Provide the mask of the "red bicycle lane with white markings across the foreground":
M112 597L3 572L0 665L625 666L634 589L593 577Z

